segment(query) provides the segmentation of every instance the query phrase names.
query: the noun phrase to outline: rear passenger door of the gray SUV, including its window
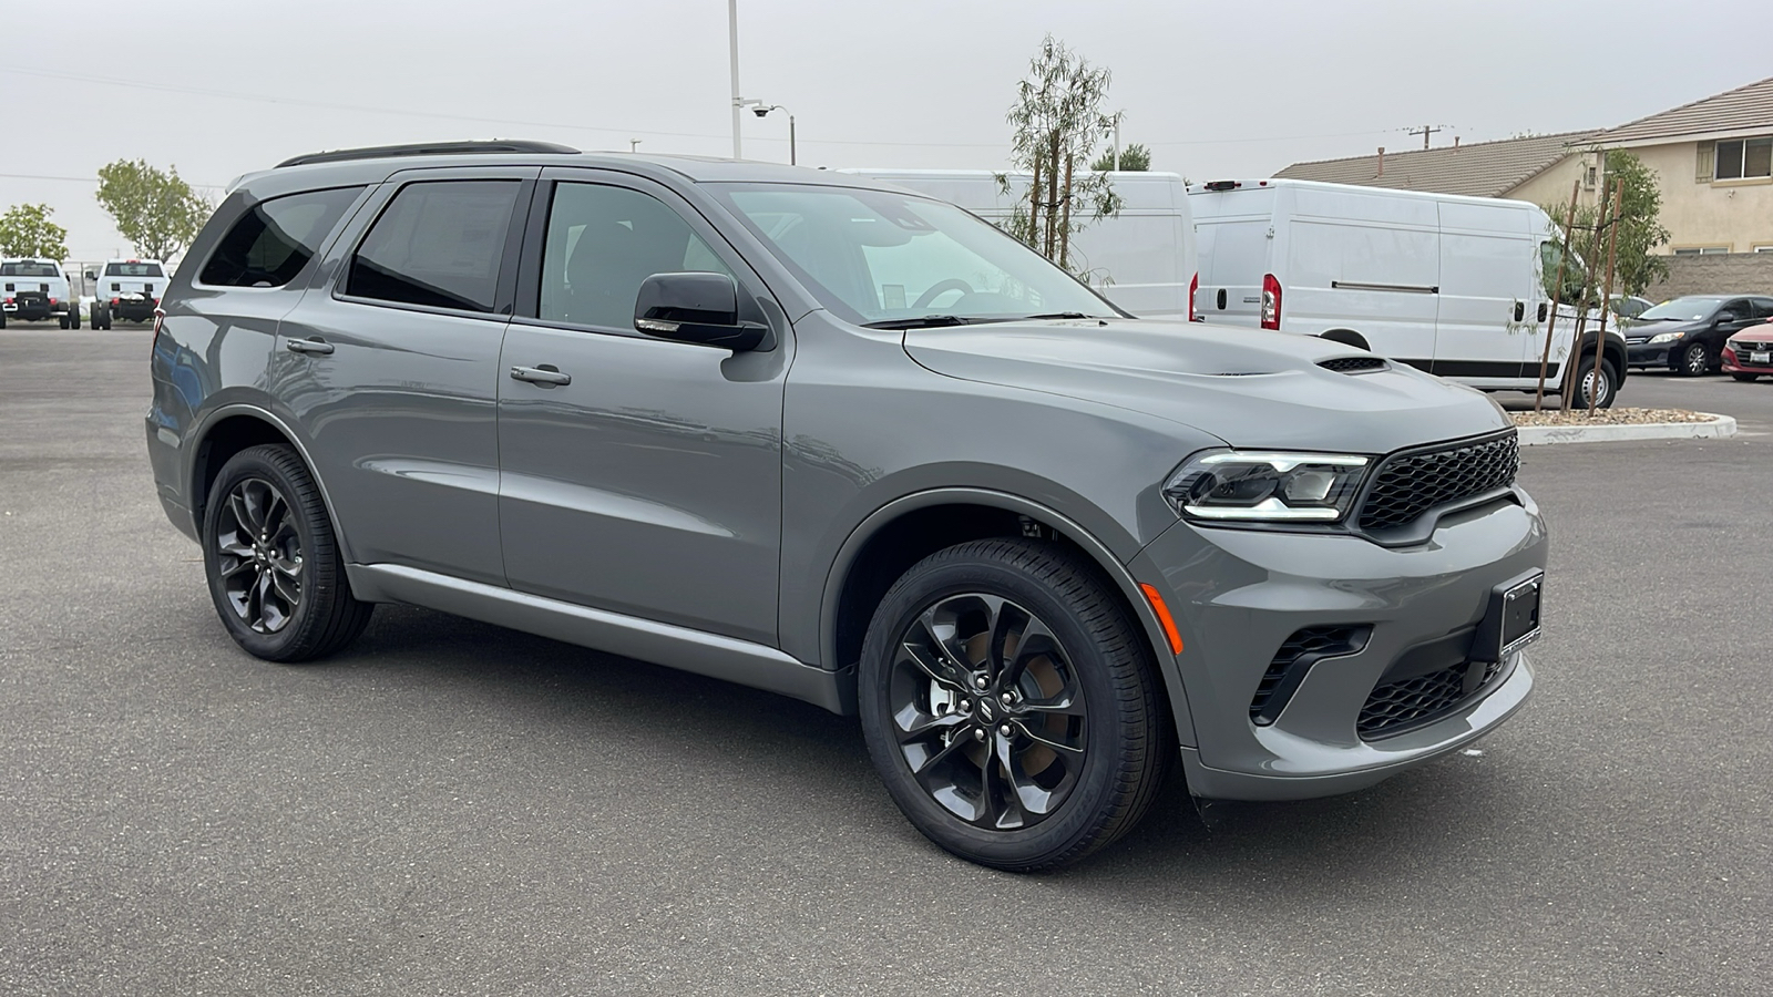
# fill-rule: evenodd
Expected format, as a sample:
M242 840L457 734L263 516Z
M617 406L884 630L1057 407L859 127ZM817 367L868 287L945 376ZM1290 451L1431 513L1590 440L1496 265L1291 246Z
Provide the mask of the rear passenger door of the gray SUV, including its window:
M539 167L390 177L278 328L271 392L360 564L505 584L498 349Z

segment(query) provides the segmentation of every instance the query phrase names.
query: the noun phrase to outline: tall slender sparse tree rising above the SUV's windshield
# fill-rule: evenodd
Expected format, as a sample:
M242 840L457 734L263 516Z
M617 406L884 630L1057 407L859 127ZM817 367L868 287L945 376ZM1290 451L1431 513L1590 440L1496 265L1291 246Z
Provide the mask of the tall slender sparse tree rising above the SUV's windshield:
M1071 236L1121 209L1108 174L1083 169L1113 128L1113 115L1101 110L1106 98L1108 69L1046 35L1007 115L1012 172L1032 177L1027 190L1016 190L1009 174L996 177L1005 195L1018 197L1009 232L1066 270Z

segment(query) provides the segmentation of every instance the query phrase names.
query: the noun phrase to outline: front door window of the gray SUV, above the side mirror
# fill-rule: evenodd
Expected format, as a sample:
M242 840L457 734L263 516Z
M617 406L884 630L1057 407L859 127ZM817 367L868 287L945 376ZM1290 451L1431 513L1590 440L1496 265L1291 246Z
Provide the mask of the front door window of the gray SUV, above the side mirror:
M640 282L654 273L732 275L670 206L621 186L562 183L548 211L541 316L633 328Z

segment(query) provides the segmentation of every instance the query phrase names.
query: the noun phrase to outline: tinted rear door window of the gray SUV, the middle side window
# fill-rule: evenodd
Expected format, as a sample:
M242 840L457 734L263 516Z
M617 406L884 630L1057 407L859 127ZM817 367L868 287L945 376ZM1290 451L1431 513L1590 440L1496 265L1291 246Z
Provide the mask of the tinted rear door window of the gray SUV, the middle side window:
M351 257L346 294L491 312L518 181L401 188Z

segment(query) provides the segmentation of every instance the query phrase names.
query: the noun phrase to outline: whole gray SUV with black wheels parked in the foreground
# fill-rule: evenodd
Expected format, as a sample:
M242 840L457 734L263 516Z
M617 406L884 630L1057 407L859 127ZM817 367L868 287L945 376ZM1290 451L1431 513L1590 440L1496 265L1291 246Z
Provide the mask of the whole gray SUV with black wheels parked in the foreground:
M1060 866L1172 763L1342 793L1527 699L1546 530L1484 396L1138 321L807 169L507 142L243 177L147 447L248 653L399 601L860 715L936 844Z

